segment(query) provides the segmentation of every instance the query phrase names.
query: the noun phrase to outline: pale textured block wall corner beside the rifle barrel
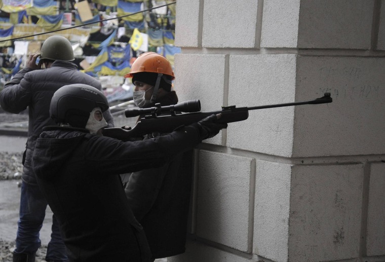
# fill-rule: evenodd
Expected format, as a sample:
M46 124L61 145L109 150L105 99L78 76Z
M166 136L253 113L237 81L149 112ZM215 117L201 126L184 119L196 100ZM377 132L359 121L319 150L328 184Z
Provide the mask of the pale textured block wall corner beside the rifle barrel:
M196 148L168 261L385 261L385 3L179 0L175 88L260 109Z

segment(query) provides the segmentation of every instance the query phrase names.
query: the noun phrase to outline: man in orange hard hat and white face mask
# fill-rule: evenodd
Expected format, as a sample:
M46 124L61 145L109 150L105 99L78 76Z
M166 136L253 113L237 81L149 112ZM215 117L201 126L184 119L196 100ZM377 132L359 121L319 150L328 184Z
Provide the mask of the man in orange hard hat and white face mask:
M175 91L171 90L174 72L170 62L160 54L141 54L125 77L132 78L135 85L134 101L141 108L156 103L167 106L178 102ZM140 139L155 136L148 134ZM185 251L192 157L193 151L190 150L179 154L163 167L133 172L123 177L127 199L136 219L143 226L152 259Z

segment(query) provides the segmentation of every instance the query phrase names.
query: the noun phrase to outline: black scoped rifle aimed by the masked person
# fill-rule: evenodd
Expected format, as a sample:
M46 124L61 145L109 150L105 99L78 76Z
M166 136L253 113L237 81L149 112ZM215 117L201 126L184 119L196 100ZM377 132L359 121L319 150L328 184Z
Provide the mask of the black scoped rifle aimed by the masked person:
M213 114L221 114L221 118L218 119L219 123L232 123L246 120L249 117L249 110L302 104L324 104L331 103L332 101L333 99L330 97L330 93L324 93L323 97L309 101L238 108L235 105L222 106L222 110L211 112L200 112L201 102L198 99L188 100L168 106L161 106L161 104L158 103L155 104L154 107L149 108L126 109L125 115L127 118L139 115L144 115L144 117L141 118L140 121L138 121L130 130L119 127L105 128L103 130L103 135L128 141L132 137L139 137L153 132L170 133L177 127L197 123ZM170 115L159 116L165 111L168 111ZM176 112L183 112L187 114L176 114Z

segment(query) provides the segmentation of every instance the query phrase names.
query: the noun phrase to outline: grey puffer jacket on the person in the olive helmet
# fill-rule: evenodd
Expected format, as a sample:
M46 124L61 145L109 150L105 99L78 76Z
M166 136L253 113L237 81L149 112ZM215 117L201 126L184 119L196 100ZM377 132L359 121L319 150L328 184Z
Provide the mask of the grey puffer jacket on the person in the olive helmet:
M56 60L50 68L31 70L24 68L4 86L0 93L1 107L18 114L28 107L28 140L22 179L26 183L36 183L31 170L32 152L36 139L45 126L56 125L50 118L51 98L56 90L69 84L87 84L101 90L99 81L78 70L71 62ZM108 127L113 126L109 111L103 114Z

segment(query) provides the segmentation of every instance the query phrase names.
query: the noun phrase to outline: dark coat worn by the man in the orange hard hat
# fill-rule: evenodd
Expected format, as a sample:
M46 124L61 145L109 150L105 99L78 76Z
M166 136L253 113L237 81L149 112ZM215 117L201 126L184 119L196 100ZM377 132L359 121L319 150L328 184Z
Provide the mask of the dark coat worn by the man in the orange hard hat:
M172 105L178 102L178 97L170 92L156 102L162 106ZM129 176L125 192L136 219L143 226L152 258L185 251L192 158L191 149L163 167L141 170Z

